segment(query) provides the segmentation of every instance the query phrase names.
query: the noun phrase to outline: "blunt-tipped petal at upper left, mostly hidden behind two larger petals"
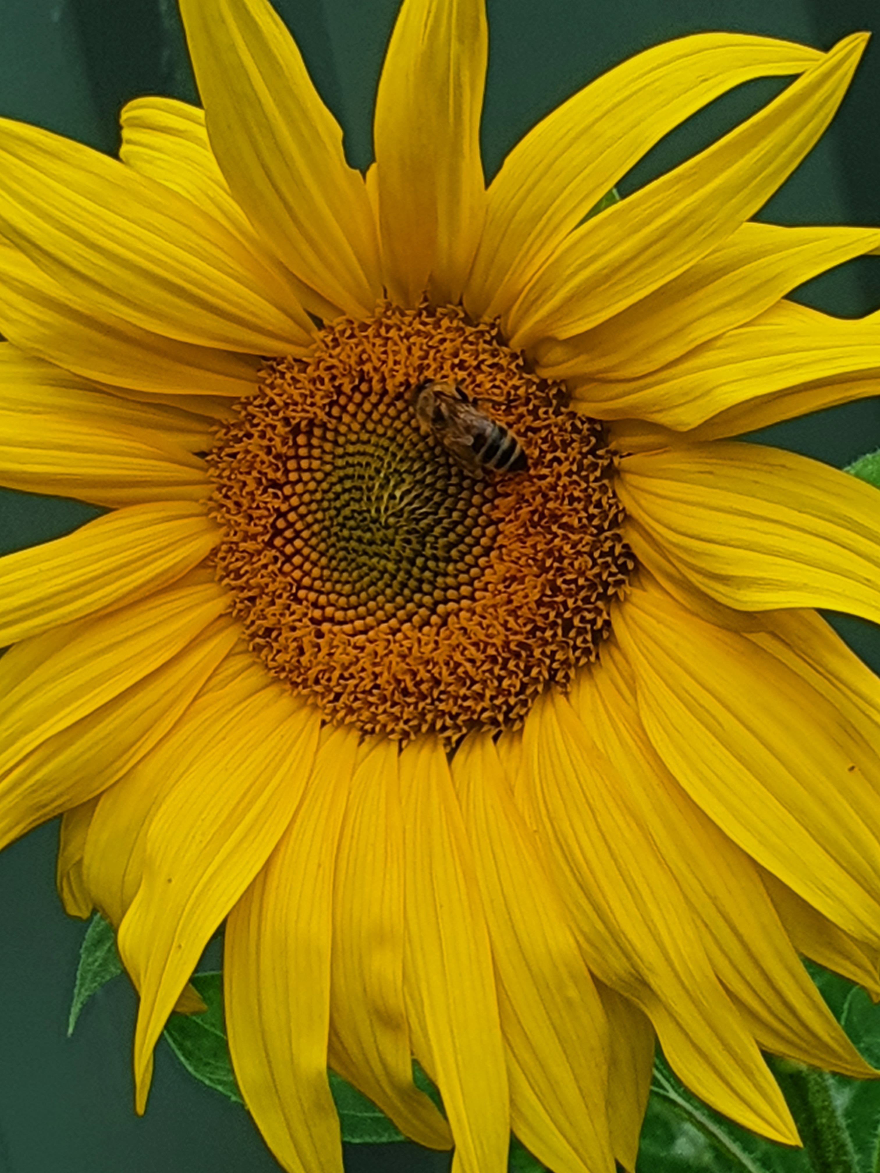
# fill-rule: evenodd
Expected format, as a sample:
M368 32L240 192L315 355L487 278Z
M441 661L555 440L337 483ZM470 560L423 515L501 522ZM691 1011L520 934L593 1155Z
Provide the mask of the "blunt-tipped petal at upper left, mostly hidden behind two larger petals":
M282 265L272 243L266 245L232 198L208 141L204 110L171 97L137 97L122 108L120 121L123 163L180 191L199 208L209 209L248 252L293 290L297 301L310 313L323 319L339 317L338 306L331 305Z

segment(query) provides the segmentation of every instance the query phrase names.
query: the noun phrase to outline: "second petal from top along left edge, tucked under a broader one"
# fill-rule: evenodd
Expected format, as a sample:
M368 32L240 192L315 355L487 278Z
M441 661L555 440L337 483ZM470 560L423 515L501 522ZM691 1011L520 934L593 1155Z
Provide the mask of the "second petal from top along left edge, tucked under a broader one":
M136 391L249 395L260 361L143 330L77 297L0 242L0 328L29 354Z

